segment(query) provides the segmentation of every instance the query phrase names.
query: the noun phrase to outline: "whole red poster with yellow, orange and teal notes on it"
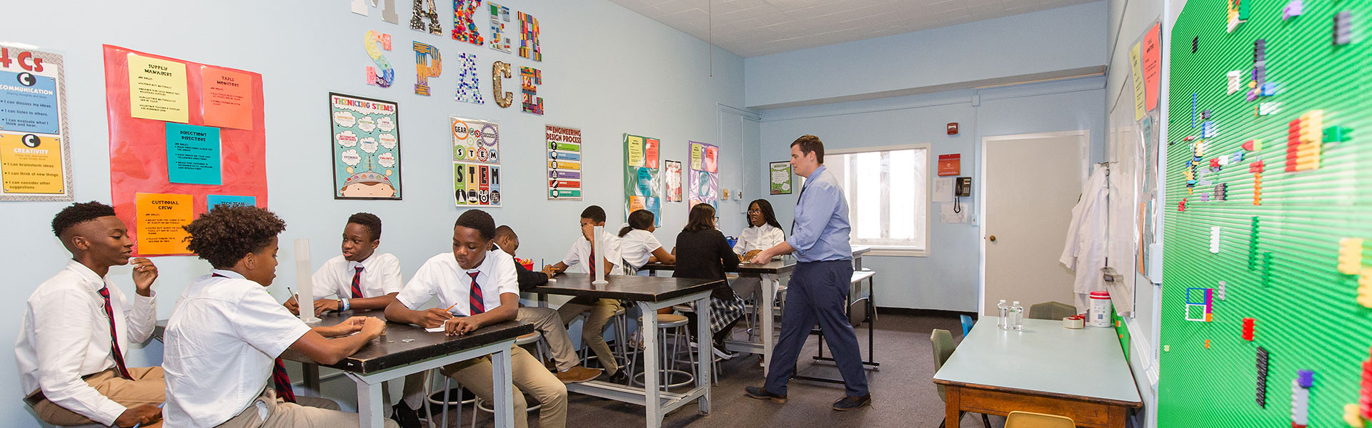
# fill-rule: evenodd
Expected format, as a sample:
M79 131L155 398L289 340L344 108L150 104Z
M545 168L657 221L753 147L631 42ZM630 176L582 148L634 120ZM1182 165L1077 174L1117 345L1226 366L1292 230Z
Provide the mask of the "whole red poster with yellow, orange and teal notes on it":
M136 255L189 255L173 235L210 195L268 206L261 74L104 45L104 85L114 210L170 233L137 235Z

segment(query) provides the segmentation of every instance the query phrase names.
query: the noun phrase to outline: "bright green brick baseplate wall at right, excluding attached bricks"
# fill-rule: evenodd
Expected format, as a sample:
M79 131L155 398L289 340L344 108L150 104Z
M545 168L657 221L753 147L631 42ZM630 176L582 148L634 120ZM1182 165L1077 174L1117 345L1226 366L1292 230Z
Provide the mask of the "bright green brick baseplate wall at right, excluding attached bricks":
M1225 0L1187 1L1165 41L1172 47L1172 81L1158 427L1292 427L1291 383L1302 369L1314 370L1309 427L1349 427L1345 406L1361 399L1372 309L1357 302L1358 276L1336 268L1340 240L1347 237L1367 240L1347 255L1361 257L1354 259L1357 269L1372 268L1372 43L1367 33L1372 1L1305 0L1302 14L1286 21L1283 10L1302 1L1243 1L1247 21L1232 33L1227 32ZM1340 11L1351 16L1351 43L1345 45L1335 44ZM1265 40L1265 82L1276 84L1276 93L1250 102L1259 38ZM1229 71L1240 74L1235 93L1228 92ZM1277 103L1266 106L1276 110L1258 115L1262 103ZM1202 118L1206 110L1209 119ZM1294 160L1302 162L1294 162L1287 156L1291 122L1316 110L1323 110L1317 133L1335 126L1353 132L1331 136L1343 141L1324 143L1320 136L1318 143L1297 144ZM1314 130L1306 118L1302 123ZM1259 140L1261 150L1243 147L1251 140ZM1202 152L1195 156L1198 144ZM1211 159L1221 156L1228 156L1228 165L1210 171ZM1317 167L1309 162L1313 158ZM1250 167L1258 160L1264 165L1261 200L1254 204L1257 176ZM1302 169L1290 171L1288 165ZM1192 167L1196 173L1188 177ZM1221 184L1225 200L1217 195ZM1211 252L1216 226L1218 252ZM1225 283L1224 299L1220 281ZM1198 305L1188 305L1188 288L1194 288L1190 302ZM1206 288L1210 321L1188 321L1206 317ZM1372 287L1368 294L1372 298ZM1243 339L1246 317L1255 320L1251 342ZM1258 347L1269 354L1265 406L1257 402Z

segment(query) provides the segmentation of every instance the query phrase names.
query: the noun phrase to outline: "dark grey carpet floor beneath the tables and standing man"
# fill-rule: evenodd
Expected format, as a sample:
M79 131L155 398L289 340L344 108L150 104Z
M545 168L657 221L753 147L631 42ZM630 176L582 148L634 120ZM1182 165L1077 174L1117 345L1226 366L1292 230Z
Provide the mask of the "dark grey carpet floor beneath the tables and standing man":
M786 403L774 403L744 396L745 385L761 385L763 370L759 357L749 355L720 362L719 384L713 387L709 416L701 416L696 405L686 405L667 414L663 427L723 428L723 427L874 427L874 428L936 428L944 417L944 403L938 399L932 377L933 351L929 333L936 329L954 332L962 340L962 328L955 317L882 314L875 332L879 370L867 370L873 405L858 412L834 412L830 405L842 398L841 384L792 380ZM741 329L740 329L741 331ZM867 326L858 328L858 342L867 355ZM818 336L811 336L797 365L801 374L838 377L838 369L829 362L815 362ZM825 350L829 354L829 350ZM567 427L643 427L643 407L571 394ZM462 424L451 420L451 428L471 427L471 406L462 409ZM435 414L436 416L436 414ZM991 416L992 427L1004 427L1004 418ZM491 427L490 413L477 417L476 427ZM538 427L536 414L530 414L530 425ZM982 428L978 414L963 416L962 428Z

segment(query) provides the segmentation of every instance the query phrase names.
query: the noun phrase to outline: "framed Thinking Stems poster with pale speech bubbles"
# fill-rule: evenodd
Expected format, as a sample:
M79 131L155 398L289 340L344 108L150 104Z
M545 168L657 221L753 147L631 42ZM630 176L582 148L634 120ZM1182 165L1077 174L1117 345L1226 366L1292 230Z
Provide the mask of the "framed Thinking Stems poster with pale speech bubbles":
M401 107L329 93L333 199L401 200Z

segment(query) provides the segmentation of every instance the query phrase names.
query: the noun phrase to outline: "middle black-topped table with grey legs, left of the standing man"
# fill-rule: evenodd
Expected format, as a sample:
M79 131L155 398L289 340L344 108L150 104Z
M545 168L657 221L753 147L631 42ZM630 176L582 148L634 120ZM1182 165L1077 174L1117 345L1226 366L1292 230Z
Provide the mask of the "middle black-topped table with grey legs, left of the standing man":
M649 428L661 427L663 417L667 413L676 410L691 401L697 402L701 414L708 414L711 380L709 362L713 361L713 355L711 353L713 347L709 343L709 335L696 335L696 387L686 392L664 392L659 390L659 377L656 376L660 369L657 366L657 354L661 353L657 344L656 333L657 317L650 314L656 314L659 309L671 307L672 305L696 302L696 328L698 332L709 332L709 292L715 289L715 287L719 287L723 281L617 274L606 276L605 280L608 283L601 285L591 284L591 276L584 273L557 274L547 283L547 285L534 288L534 292L539 294L541 302L546 302L547 295L590 296L637 302L639 313L649 314L643 317L641 326L642 332L639 333L639 337L643 337L643 373L648 374L643 376L642 388L591 380L567 384L567 391L642 405L648 409L646 418ZM619 337L616 340L626 339Z

